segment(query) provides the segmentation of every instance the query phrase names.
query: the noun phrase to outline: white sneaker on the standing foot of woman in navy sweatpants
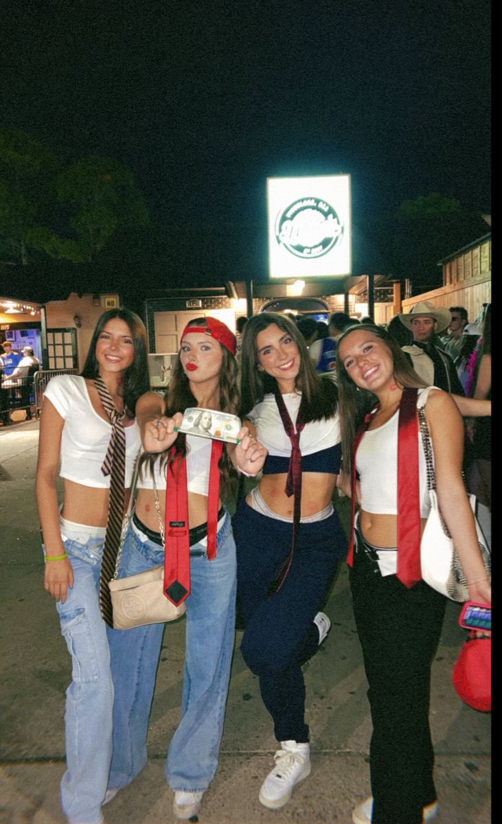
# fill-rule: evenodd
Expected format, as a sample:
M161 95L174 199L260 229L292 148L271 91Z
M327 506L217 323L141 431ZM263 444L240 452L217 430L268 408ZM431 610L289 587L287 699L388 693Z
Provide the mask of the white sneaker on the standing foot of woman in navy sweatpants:
M281 741L282 750L274 755L275 766L261 784L258 798L264 807L279 810L289 802L293 787L310 775L310 745Z

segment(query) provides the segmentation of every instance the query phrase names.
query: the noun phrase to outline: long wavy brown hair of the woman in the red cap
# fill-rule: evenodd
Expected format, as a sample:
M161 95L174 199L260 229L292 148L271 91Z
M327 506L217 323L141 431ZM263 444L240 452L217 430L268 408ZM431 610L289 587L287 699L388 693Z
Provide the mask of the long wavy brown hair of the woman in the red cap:
M207 328L207 323L204 317L194 318L189 321L190 326L204 326ZM229 412L230 414L238 414L239 410L239 392L237 389L237 363L231 352L223 344L219 344L223 354L222 368L219 375L219 410L221 412ZM176 412L185 412L191 406L197 406L197 400L190 391L190 383L186 377L183 367L181 366L180 353L176 357L174 366L172 368L171 382L167 388L164 396L165 414L172 417ZM186 437L185 434L179 433L174 442L174 450L171 453L162 453L160 460L162 464L167 461L167 465L176 461L178 456L186 455ZM157 460L158 456L148 456L148 464L152 469L153 462ZM227 450L223 449L223 454L219 461L219 469L222 480L222 487L225 493L228 493L230 487L230 475L234 471L232 461L228 457Z

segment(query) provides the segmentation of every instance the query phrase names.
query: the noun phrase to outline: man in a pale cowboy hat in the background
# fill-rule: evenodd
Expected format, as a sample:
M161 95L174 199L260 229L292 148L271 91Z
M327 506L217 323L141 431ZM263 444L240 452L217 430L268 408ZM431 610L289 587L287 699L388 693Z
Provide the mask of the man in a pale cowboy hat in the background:
M439 346L438 335L450 323L449 309L421 301L411 311L398 317L406 329L413 333L413 344L402 346L401 349L408 356L415 372L429 386L438 386L445 392L463 395L453 360Z

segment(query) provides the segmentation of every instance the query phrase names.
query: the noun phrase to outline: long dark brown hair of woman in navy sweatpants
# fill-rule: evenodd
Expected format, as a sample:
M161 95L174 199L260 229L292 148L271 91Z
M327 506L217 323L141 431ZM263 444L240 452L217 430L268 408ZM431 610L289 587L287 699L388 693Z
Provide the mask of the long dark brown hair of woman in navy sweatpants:
M242 416L251 412L253 406L260 403L266 394L277 391L275 378L258 369L256 346L256 338L260 332L273 324L290 335L300 353L300 368L295 379L295 389L302 392L303 420L308 423L321 418L331 418L338 405L335 383L317 374L303 335L298 331L296 324L288 317L271 311L251 317L244 327L241 349Z

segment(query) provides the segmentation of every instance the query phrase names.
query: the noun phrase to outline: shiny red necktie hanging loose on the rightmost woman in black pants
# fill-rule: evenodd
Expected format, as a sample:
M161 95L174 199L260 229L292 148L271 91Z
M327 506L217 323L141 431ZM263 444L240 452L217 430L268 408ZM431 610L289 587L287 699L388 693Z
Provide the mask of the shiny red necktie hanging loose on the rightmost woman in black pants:
M418 459L417 389L404 389L399 405L397 426L397 578L411 588L421 579L420 573L420 493ZM364 418L352 444L352 526L347 563L354 562L355 456L375 407Z

